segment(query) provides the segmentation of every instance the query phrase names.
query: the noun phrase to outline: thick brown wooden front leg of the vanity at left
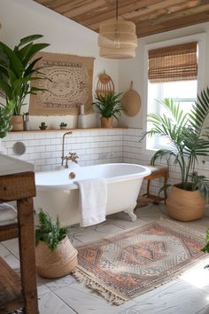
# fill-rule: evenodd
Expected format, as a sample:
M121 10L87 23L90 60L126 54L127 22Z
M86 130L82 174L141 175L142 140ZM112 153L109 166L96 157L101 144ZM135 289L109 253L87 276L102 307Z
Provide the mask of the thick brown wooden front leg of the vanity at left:
M35 270L35 230L32 198L17 200L19 220L19 258L22 292L25 299L25 313L38 314L36 270Z

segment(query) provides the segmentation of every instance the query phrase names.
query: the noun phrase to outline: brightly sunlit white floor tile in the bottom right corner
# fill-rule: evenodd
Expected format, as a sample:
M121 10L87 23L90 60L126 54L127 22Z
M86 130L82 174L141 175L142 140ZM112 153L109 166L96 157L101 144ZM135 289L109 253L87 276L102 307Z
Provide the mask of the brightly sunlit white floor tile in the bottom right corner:
M209 304L209 294L179 280L120 314L196 314ZM135 312L134 312L135 310Z

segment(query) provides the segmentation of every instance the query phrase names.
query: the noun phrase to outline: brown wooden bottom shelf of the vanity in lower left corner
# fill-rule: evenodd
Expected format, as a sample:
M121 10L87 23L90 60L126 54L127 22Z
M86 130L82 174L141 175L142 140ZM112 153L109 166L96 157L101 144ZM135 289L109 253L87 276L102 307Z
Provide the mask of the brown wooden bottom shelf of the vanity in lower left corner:
M19 276L0 257L0 313L12 313L24 306Z

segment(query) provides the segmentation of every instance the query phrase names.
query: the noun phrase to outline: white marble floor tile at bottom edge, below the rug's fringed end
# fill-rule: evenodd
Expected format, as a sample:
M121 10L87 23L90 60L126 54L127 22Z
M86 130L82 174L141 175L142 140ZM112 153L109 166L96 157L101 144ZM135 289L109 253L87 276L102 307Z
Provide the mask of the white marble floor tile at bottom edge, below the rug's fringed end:
M125 302L120 306L112 305L81 283L54 290L54 293L78 314L118 314L121 310L136 305L134 301Z

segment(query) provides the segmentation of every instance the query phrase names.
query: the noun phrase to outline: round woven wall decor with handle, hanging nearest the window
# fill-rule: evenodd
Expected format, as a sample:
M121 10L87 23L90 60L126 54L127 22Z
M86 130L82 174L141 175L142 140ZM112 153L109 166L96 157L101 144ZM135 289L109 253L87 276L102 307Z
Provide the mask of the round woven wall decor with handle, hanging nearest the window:
M133 82L131 81L130 89L124 93L121 99L122 106L125 108L125 114L133 117L138 114L141 108L141 98L137 91L133 90Z

